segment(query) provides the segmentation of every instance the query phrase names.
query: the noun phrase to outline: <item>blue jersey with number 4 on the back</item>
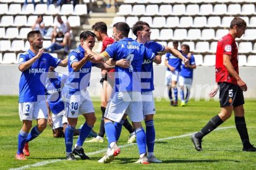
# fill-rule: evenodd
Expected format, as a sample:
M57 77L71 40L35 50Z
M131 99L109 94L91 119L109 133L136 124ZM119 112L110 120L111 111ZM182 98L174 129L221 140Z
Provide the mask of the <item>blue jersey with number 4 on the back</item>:
M126 59L130 61L130 68L115 69L115 91L141 91L140 77L144 59L153 60L155 54L143 44L132 38L123 38L114 42L105 50L114 60Z

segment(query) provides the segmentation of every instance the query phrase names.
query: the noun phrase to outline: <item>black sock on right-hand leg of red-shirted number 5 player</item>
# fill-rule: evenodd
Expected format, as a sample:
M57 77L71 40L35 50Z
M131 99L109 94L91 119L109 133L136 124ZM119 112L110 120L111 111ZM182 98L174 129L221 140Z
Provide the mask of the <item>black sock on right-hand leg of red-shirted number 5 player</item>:
M252 145L249 142L249 135L246 128L245 118L235 116L235 123L236 123L236 129L242 140L242 145L244 145L244 148L250 148Z

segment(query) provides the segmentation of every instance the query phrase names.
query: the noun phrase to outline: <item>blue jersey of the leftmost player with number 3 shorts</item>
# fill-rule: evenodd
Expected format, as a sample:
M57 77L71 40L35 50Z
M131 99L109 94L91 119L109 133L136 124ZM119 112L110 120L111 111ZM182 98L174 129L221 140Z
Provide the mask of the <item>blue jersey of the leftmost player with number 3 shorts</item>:
M20 54L19 64L27 62L35 57L35 54L28 50ZM45 85L49 67L57 67L61 60L56 59L48 53L43 53L30 68L22 71L19 83L19 102L38 102L45 100Z

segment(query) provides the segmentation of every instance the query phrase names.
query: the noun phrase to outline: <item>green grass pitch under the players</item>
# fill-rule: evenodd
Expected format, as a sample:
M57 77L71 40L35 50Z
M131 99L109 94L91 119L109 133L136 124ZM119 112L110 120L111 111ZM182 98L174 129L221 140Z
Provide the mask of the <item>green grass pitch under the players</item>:
M26 161L15 160L17 135L22 127L18 113L18 97L0 96L0 169L255 169L256 153L242 152L239 134L234 126L234 116L223 123L218 131L211 132L203 139L203 151L197 152L189 134L199 131L210 118L219 111L219 102L191 100L186 107L170 107L169 102L156 102L155 155L161 164L134 164L139 158L137 145L127 145L129 133L122 129L118 145L121 154L109 164L97 161L103 156L108 143L85 143L85 153L91 160L66 161L64 139L54 139L51 128L30 142L30 156ZM100 126L100 102L93 102L97 121L95 131ZM245 119L250 142L256 144L256 100L245 100ZM80 126L84 121L79 117ZM36 122L33 121L33 126ZM229 127L229 128L224 128ZM77 137L74 137L74 143ZM93 153L97 152L97 153Z

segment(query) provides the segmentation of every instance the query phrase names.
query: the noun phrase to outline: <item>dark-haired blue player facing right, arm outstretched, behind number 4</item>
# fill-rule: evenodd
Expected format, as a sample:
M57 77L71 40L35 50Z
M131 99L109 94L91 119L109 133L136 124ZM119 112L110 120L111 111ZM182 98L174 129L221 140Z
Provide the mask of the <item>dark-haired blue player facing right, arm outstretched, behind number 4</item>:
M138 21L132 26L132 31L137 37L136 41L142 43L150 49L155 54L158 52L171 52L174 56L176 56L179 60L183 60L185 63L188 62L186 57L184 57L181 52L176 49L163 46L158 42L150 41L150 25L147 22ZM155 60L156 63L161 63L160 60ZM158 160L154 152L155 146L155 126L153 121L153 116L155 115L155 101L153 97L153 62L147 58L143 59L142 63L142 104L143 104L143 116L145 120L146 126L146 141L147 141L147 158L148 161L152 163L161 163Z

